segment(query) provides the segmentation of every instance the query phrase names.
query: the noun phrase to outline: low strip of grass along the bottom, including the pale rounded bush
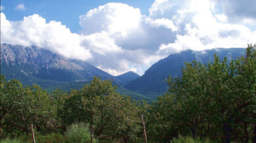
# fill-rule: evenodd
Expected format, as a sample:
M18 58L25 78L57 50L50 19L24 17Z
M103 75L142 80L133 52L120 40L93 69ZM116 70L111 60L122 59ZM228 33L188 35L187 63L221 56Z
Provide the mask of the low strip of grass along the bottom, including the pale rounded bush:
M152 139L152 138L151 138ZM163 142L163 140L151 140L148 138L148 142L157 143ZM84 123L75 123L71 125L64 135L52 133L49 135L37 135L35 136L35 141L37 143L48 143L48 142L63 142L63 143L86 143L91 142L90 133L88 127ZM96 140L94 138L94 142L117 142L117 140ZM144 142L144 138L137 138L135 142L142 143ZM191 136L179 136L178 138L173 138L164 142L170 143L217 143L220 142L218 140L211 140L209 138L192 138ZM0 143L33 143L32 136L20 136L18 138L5 138L0 140Z

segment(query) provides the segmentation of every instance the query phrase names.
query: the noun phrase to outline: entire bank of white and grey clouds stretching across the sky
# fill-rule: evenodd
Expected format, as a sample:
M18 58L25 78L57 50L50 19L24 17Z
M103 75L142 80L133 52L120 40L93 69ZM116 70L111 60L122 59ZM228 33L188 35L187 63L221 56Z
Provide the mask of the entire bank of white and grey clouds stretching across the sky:
M231 22L230 17L240 16L252 24L256 12L250 12L255 8L249 5L248 12L228 13L228 7L239 4L234 3L155 0L148 16L139 8L107 3L79 16L79 34L71 33L60 22L47 23L37 14L10 22L1 13L1 42L34 44L66 57L87 60L114 75L127 71L143 74L154 62L182 50L240 48L254 43L256 31L243 22Z

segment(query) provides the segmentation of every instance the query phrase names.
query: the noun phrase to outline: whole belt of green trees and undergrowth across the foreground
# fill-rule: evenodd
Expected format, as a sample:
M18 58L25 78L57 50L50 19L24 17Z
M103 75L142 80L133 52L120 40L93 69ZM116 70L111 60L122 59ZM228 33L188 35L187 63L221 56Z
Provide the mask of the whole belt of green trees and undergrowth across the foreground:
M185 63L156 101L117 93L111 80L48 92L18 80L0 83L1 142L256 142L256 45L245 55ZM184 141L186 142L186 141Z

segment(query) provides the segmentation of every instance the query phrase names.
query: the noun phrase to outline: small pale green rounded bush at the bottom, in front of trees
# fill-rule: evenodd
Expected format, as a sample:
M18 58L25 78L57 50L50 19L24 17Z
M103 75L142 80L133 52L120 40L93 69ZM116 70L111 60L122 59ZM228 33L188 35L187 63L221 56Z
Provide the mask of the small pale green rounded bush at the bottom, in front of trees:
M85 123L74 123L72 124L68 130L65 133L66 142L90 142L91 136L90 132L88 130L88 127L86 127ZM94 139L94 142L96 140Z

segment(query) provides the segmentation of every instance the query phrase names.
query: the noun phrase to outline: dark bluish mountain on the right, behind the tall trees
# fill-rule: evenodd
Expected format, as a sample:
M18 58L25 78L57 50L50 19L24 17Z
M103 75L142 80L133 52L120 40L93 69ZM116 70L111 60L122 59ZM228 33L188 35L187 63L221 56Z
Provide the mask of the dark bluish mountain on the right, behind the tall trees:
M181 76L184 62L196 60L205 64L208 61L213 61L214 54L217 54L221 59L227 57L228 61L230 61L231 59L245 54L245 48L216 48L203 52L186 50L177 54L171 54L152 65L144 75L128 82L125 88L155 98L167 91L165 79L168 78L169 75L172 77Z

